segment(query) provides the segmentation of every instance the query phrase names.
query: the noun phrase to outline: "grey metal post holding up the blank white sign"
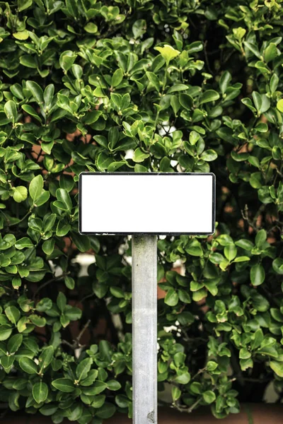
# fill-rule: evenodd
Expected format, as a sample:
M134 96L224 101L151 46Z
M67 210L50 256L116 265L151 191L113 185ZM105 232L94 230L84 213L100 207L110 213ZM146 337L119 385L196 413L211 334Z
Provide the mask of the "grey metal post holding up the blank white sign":
M157 424L157 237L132 237L133 423Z

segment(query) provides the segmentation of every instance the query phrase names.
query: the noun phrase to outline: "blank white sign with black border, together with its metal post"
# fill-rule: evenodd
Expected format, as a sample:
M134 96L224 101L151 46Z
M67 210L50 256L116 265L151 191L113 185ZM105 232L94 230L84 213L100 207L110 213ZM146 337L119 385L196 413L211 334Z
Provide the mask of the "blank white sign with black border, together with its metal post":
M132 235L133 423L157 424L157 238L214 232L212 173L82 172L79 232Z

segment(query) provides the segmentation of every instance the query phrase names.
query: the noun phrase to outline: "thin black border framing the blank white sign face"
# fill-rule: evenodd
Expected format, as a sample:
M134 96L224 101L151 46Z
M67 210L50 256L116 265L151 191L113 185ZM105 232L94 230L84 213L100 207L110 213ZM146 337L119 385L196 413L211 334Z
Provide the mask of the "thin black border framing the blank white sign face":
M212 232L86 232L81 231L81 180L83 175L211 175L212 176ZM81 235L213 235L215 232L216 177L213 172L81 172L79 174L79 233Z

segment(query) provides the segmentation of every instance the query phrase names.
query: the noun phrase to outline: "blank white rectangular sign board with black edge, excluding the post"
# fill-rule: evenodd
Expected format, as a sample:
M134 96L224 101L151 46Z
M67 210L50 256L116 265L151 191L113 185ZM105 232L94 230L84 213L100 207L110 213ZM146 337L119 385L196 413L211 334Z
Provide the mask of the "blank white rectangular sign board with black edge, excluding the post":
M82 172L81 234L209 235L215 222L212 173Z

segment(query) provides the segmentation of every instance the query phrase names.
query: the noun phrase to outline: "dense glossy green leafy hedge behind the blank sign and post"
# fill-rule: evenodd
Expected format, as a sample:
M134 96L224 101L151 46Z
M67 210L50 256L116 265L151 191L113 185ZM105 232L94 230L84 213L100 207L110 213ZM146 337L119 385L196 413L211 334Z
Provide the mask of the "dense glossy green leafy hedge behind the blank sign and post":
M0 19L1 403L131 416L131 245L79 235L87 170L215 173L214 236L158 240L159 389L219 418L282 396L281 1L11 0Z

